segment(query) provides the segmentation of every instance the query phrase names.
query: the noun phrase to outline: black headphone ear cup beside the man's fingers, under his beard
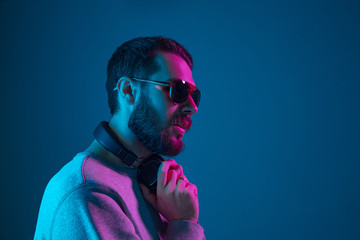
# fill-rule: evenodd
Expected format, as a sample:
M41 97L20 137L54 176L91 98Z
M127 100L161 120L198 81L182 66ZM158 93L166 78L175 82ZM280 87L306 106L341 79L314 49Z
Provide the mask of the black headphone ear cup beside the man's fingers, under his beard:
M163 157L153 154L139 167L138 181L147 186L153 194L156 194L158 170L163 161Z

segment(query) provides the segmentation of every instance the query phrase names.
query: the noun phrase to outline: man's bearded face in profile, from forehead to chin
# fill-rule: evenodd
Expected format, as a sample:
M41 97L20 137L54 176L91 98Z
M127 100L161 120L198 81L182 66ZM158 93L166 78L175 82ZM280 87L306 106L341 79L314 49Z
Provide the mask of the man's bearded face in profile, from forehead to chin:
M171 82L181 79L195 85L191 69L179 56L161 53L154 59L159 71L148 79ZM129 128L147 148L153 152L175 156L184 147L182 137L191 127L190 115L197 106L189 97L183 103L174 103L169 98L169 87L147 84L142 91L129 119Z

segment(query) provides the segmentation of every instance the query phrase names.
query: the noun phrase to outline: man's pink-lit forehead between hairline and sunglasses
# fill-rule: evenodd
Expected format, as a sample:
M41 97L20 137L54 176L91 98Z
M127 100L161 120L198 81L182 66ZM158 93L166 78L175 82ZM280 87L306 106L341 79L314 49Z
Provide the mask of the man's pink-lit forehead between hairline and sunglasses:
M195 85L191 69L182 57L173 53L159 53L154 61L159 70L150 75L150 79L164 82L181 79Z

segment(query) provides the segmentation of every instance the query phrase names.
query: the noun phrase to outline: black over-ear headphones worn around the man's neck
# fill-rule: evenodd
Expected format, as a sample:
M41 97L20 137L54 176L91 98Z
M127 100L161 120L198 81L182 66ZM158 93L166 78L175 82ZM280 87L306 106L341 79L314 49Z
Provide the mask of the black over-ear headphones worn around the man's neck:
M106 150L119 157L127 166L136 166L138 164L138 157L118 141L108 122L102 121L99 123L94 130L94 137ZM154 194L156 194L157 172L163 161L163 157L153 153L138 166L138 181L147 186L150 192Z

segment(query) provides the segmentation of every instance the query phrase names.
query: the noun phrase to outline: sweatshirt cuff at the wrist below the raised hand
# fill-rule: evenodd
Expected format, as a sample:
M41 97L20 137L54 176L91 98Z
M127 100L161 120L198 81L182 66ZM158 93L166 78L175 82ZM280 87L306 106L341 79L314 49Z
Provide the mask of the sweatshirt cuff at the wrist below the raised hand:
M166 231L167 240L205 240L204 229L191 221L170 221Z

